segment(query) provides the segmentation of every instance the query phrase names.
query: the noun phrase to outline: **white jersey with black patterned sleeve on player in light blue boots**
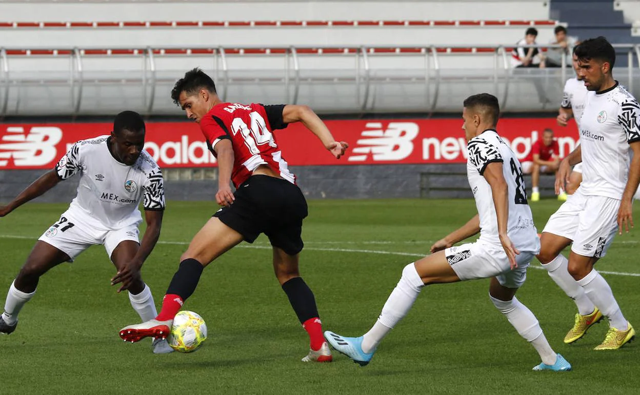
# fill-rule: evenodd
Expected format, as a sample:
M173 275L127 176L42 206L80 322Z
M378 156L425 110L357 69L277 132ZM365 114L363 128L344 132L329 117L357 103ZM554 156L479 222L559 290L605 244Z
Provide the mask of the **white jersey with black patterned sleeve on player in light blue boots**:
M511 148L502 141L502 138L495 131L488 130L469 140L467 149L467 177L480 216L479 240L501 248L491 186L483 177L484 170L489 163L501 162L502 175L504 175L509 190L507 234L518 250L537 253L540 249L538 231L533 223L529 204L527 204L527 193L520 162Z

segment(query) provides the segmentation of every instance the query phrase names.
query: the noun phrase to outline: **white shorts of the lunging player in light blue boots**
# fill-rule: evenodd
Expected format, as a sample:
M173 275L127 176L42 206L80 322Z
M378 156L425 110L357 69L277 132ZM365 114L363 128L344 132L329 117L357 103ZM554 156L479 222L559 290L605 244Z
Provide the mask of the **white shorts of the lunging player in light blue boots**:
M502 246L482 241L449 247L444 254L460 280L496 277L502 286L508 288L520 288L524 284L529 262L536 256L534 252L521 251L516 255L518 267L511 270Z

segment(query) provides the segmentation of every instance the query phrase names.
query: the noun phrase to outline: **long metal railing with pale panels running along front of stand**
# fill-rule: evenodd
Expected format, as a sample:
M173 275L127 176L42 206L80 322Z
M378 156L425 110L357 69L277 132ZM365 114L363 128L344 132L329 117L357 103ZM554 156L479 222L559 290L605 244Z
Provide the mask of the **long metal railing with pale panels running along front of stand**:
M557 46L547 45L546 48L556 48ZM634 90L634 79L640 74L640 69L635 65L634 57L640 60L640 45L620 44L614 45L616 51L626 54L627 75L625 85L630 92ZM392 45L376 46L376 47L287 47L287 48L271 48L264 49L258 47L246 47L242 49L225 48L225 47L147 47L143 49L131 48L0 48L0 118L7 115L34 115L33 109L19 108L22 96L33 97L38 92L53 92L52 86L68 86L70 101L68 104L57 102L49 102L49 109L40 109L42 115L56 113L61 115L82 115L100 113L100 106L104 106L104 114L110 113L109 106L113 107L114 101L122 99L122 97L102 97L97 87L113 87L120 86L122 88L122 96L133 95L140 99L140 103L133 104L134 108L141 113L147 115L152 114L177 114L177 108L170 103L163 101L161 106L157 104L157 94L159 90L172 86L175 80L183 73L183 66L177 67L179 58L191 57L199 58L207 62L211 62L211 71L216 85L218 94L223 101L239 100L236 95L230 95L230 90L244 86L244 91L248 93L261 92L260 88L271 85L280 85L284 92L278 90L266 90L265 101L273 102L273 98L283 102L297 104L301 96L303 88L306 91L313 91L310 86L320 90L327 95L337 86L352 86L351 94L353 101L346 101L342 95L336 96L335 108L331 107L330 100L327 99L326 106L321 105L321 112L390 112L397 111L396 104L392 104L390 99L384 99L385 87L391 86L398 89L398 86L404 86L410 92L406 99L415 99L419 101L419 105L415 108L409 108L403 112L421 112L433 113L435 111L452 111L451 104L442 104L445 98L442 95L442 88L447 85L447 94L451 92L458 94L470 94L469 86L472 83L478 83L485 90L492 90L500 99L500 105L503 110L508 110L514 106L511 105L513 99L511 89L520 83L521 88L527 84L522 81L541 81L552 80L564 85L564 81L568 76L573 75L570 67L570 59L562 54L562 66L558 69L534 70L528 76L522 76L513 72L510 61L510 51L513 45L449 45L446 47L438 47L429 45L423 47L394 47ZM559 48L559 47L557 47ZM263 58L256 58L263 56ZM470 56L467 58L465 67L458 67L454 63L454 67L447 66L444 63L449 56ZM476 56L476 58L474 58ZM474 67L473 64L480 56L489 58L486 61L486 67ZM336 68L334 63L345 64L344 61L333 60L335 57L353 58L353 68L349 67ZM57 59L68 58L69 66L67 77L62 72L63 69L55 69L47 66L46 58ZM238 62L237 58L242 61ZM259 59L252 63L252 60ZM284 64L273 67L276 60L282 58ZM391 63L387 63L385 67L376 67L374 63L379 58L388 58ZM101 60L99 63L103 68L95 69L95 59ZM118 60L115 63L105 62ZM413 65L415 60L421 59L422 63L418 66ZM456 58L458 59L458 58ZM88 70L86 64L91 62L94 64L94 70ZM136 60L142 60L139 66L134 66ZM412 65L408 62L413 61ZM22 69L22 65L36 61L36 69L26 72ZM236 64L232 64L235 61ZM393 63L396 61L396 63ZM25 63L26 62L26 63ZM275 63L276 62L276 63ZM308 64L305 66L304 63ZM13 65L15 63L15 65ZM122 64L126 63L124 71ZM162 66L160 63L163 63ZM184 61L182 62L184 63ZM182 64L180 63L180 64ZM191 62L190 62L191 63ZM193 62L195 63L195 62ZM255 63L255 64L254 64ZM319 64L323 63L323 67ZM419 62L418 62L419 63ZM449 62L451 63L451 62ZM251 64L252 67L247 67ZM346 63L347 65L349 63ZM40 67L42 65L42 67ZM118 67L115 67L117 65ZM194 64L195 67L198 64ZM269 67L267 67L269 66ZM40 67L40 69L38 69ZM205 70L210 70L205 67ZM620 70L620 69L617 69ZM616 75L619 71L616 72ZM536 79L534 79L536 78ZM463 85L458 86L457 85ZM395 86L394 86L395 85ZM531 85L531 84L529 84ZM557 84L547 83L557 89ZM137 86L137 87L136 87ZM452 88L454 86L454 88ZM525 86L526 88L526 86ZM522 88L522 89L525 89ZM351 89L351 88L349 88ZM467 90L465 92L465 89ZM527 88L528 89L528 88ZM137 90L137 93L136 93ZM51 92L50 92L51 91ZM243 91L243 92L244 92ZM326 91L326 92L325 92ZM382 91L383 93L380 93ZM24 93L28 92L28 93ZM60 92L58 89L56 92ZM395 92L395 91L394 91ZM161 92L162 97L168 97L166 92ZM248 93L244 93L247 95ZM264 93L264 92L263 92ZM243 95L243 96L244 96ZM91 96L93 99L88 99ZM257 96L257 97L256 97ZM517 95L516 95L517 96ZM97 97L97 99L96 99ZM258 95L244 97L244 99L262 100ZM306 104L314 105L316 99L313 93L304 93L303 97ZM83 103L93 100L90 104L83 106ZM10 103L12 111L10 111ZM391 104L390 104L391 103ZM15 105L13 105L15 104ZM58 107L56 107L58 106ZM324 111L322 110L324 106ZM542 104L544 108L545 103ZM530 109L539 109L539 106L532 106ZM514 107L515 109L518 106Z

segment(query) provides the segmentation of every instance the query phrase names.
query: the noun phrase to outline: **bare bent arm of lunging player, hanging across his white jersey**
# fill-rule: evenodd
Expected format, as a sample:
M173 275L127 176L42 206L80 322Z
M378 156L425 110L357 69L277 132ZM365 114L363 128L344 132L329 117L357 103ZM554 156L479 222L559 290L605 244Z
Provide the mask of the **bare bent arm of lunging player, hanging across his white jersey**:
M484 168L483 176L486 182L491 186L491 193L493 195L493 206L495 206L495 216L498 220L498 236L504 252L506 252L509 262L511 263L511 269L516 268L516 255L520 252L516 249L515 245L511 243L511 239L507 235L507 222L509 218L509 187L502 175L502 166L504 163L492 162L486 165Z

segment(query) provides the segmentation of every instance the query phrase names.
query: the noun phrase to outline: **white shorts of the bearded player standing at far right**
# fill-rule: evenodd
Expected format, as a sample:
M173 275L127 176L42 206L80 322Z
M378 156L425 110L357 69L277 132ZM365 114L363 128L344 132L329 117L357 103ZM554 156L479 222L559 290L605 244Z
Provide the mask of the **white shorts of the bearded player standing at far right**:
M571 250L584 257L604 257L618 232L620 200L586 196L580 188L557 209L543 232L571 239Z

